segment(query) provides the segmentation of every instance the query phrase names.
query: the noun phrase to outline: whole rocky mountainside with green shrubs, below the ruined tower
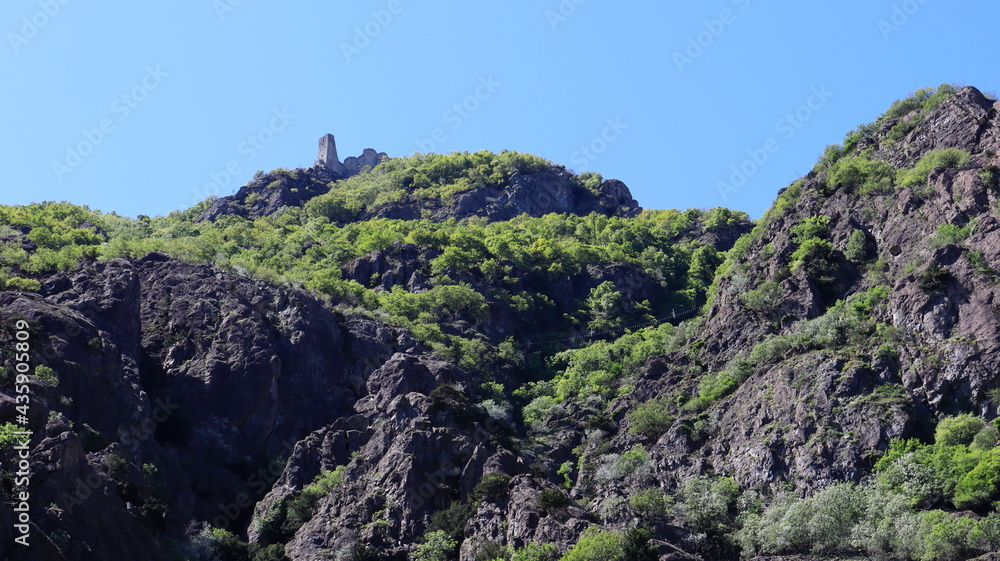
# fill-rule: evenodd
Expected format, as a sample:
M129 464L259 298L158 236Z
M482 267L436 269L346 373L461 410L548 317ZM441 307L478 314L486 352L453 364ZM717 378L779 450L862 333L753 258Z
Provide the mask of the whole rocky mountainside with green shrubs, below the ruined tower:
M0 553L997 551L998 108L919 90L755 222L516 152L0 207Z

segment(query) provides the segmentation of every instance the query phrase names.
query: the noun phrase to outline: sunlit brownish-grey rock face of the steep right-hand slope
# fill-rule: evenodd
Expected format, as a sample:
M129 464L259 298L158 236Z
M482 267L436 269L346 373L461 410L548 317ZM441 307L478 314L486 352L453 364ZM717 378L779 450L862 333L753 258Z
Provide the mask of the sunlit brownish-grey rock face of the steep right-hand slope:
M821 197L817 186L824 177L807 176L795 208L773 217L740 259L738 272L722 279L703 327L706 367L718 371L733 357L747 356L768 335L787 333L795 321L816 318L836 300L870 288L865 271L842 255L836 282L826 291L802 271L781 280L787 269L782 274L781 263L772 256L787 256L794 249L792 226L824 215L830 217L829 238L840 251L861 230L869 239L868 266L884 267L875 278L887 285L889 297L884 315L876 320L903 334L893 349L898 358L878 358L873 348L867 361L859 363L814 351L759 370L706 413L713 428L707 436L692 438L680 426L664 435L657 447L664 447L666 470L711 470L748 486L794 479L804 488L819 488L831 481L860 480L891 438L928 438L935 416L963 410L987 418L997 414L986 392L1000 383L995 369L1000 362L995 312L1000 288L973 263L979 253L980 263L1000 264L992 210L1000 194L983 181L983 171L1000 164L997 106L978 90L965 88L928 113L905 140L889 143L877 136L868 144L873 158L902 166L914 165L930 150L961 148L972 154L965 169L932 171L928 193L835 191ZM961 246L933 243L942 225L973 221ZM942 273L928 286L923 278L932 268ZM755 313L741 303L741 295L756 283L776 278L781 295L771 312ZM663 390L665 382L660 382ZM886 387L897 387L899 393L879 393ZM627 448L626 442L622 438Z

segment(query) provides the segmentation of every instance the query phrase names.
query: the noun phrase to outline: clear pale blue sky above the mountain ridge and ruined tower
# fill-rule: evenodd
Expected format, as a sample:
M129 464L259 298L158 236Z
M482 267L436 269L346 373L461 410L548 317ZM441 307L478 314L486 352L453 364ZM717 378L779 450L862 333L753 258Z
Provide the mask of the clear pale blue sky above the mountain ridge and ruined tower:
M342 159L506 148L758 217L893 100L1000 89L995 0L5 5L0 203L129 216L308 167L330 132Z

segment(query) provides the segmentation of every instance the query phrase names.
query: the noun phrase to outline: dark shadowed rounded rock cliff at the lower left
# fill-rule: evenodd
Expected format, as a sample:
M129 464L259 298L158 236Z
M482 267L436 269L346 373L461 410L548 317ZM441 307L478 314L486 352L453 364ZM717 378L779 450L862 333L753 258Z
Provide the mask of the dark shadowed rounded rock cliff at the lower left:
M31 425L51 417L32 440L31 465L34 504L59 513L38 513L37 537L71 536L66 559L166 559L154 534L183 537L192 520L227 522L220 506L251 486L241 474L287 455L357 397L337 318L303 293L155 254L96 263L44 286L41 296L0 293L0 306L5 323L31 323L33 344L58 377L57 386L31 384ZM3 395L0 412L13 418L15 405ZM144 465L170 490L155 497L166 517L152 508ZM242 510L233 522L249 518Z

